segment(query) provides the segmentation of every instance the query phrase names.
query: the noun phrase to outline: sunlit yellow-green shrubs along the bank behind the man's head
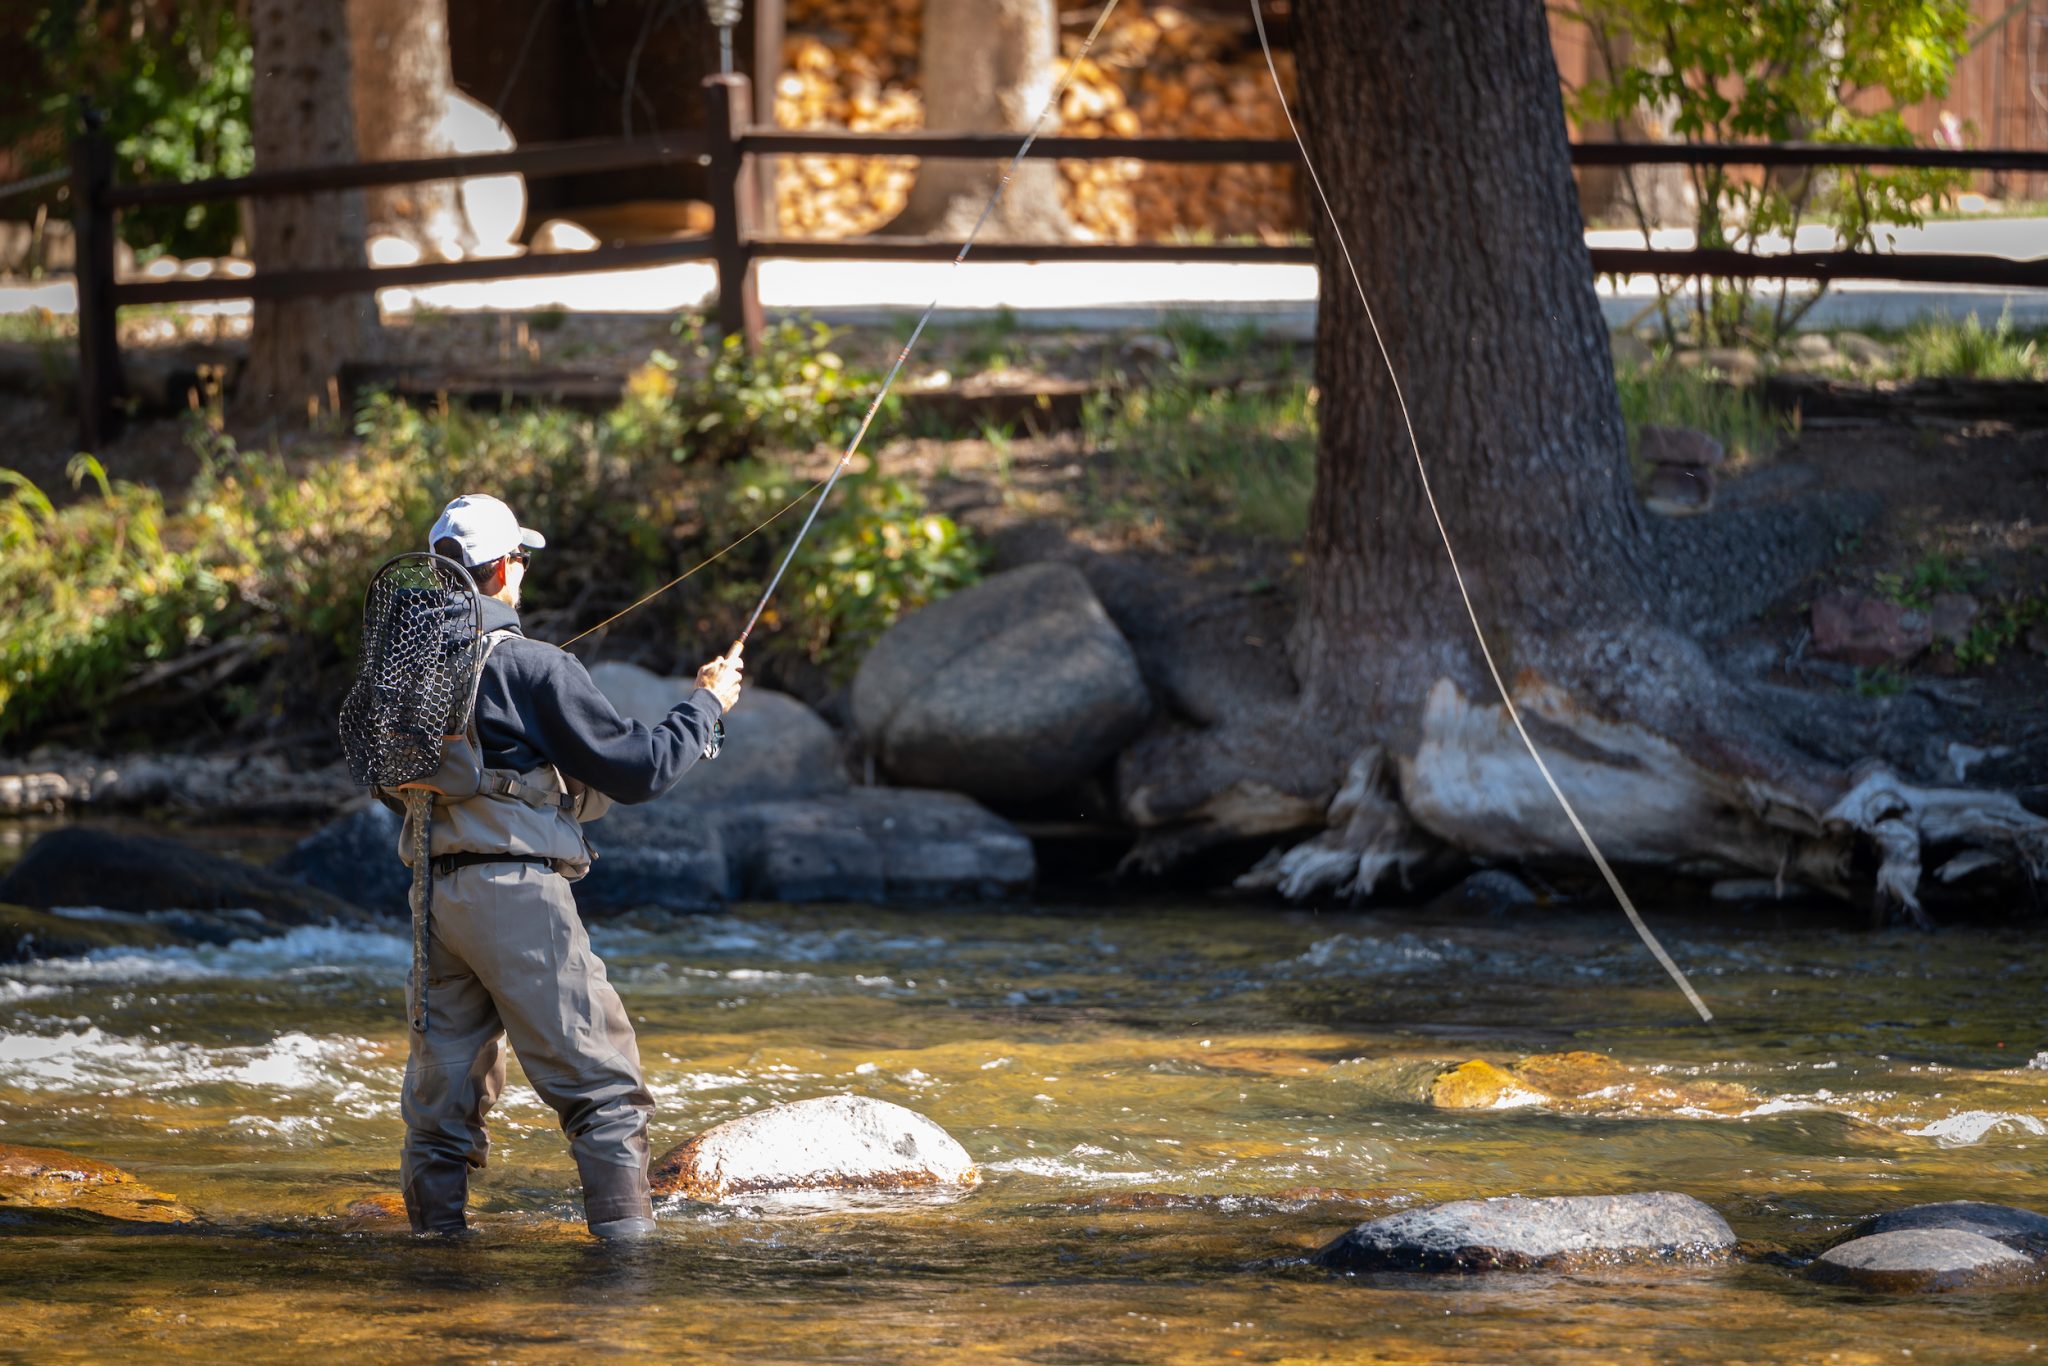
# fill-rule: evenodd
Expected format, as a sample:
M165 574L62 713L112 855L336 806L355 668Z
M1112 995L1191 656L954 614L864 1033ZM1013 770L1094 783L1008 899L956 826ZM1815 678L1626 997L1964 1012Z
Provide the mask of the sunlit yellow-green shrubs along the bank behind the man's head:
M618 414L479 414L369 399L354 451L297 467L242 451L205 418L201 475L166 510L156 489L109 481L55 508L0 471L0 741L51 719L94 717L139 670L233 631L283 641L301 709L334 692L356 649L360 594L389 555L424 549L438 508L487 489L551 545L528 606L600 616L750 530L807 479L762 461L657 461L621 446ZM801 510L621 631L666 637L696 608L690 647L737 631L801 524ZM975 547L901 479L852 475L819 516L764 616L762 643L844 676L901 612L975 578ZM715 614L713 614L715 610ZM225 698L215 698L223 702Z

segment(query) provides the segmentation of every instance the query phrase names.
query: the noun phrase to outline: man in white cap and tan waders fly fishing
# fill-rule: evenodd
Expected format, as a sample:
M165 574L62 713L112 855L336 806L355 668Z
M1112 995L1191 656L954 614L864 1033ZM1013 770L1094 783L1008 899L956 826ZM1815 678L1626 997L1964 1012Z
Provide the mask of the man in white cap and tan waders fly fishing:
M467 1227L469 1171L485 1159L485 1114L504 1090L510 1040L561 1116L590 1231L645 1237L655 1227L653 1096L569 883L590 870L586 821L614 801L659 797L717 754L721 717L739 700L739 645L702 666L696 690L647 727L621 717L575 655L520 633L520 586L547 541L506 504L465 494L442 510L428 543L432 555L387 563L371 588L365 672L342 719L344 739L377 733L387 748L393 735L424 733L393 707L399 694L412 694L416 711L420 696L434 696L424 715L451 719L426 727L442 731L440 754L414 762L438 758L432 774L387 782L393 774L369 772L379 795L403 799L399 854L414 868L406 1212L416 1233ZM387 580L397 586L379 592ZM408 653L408 623L422 621L428 643ZM444 674L455 684L442 696L432 684Z

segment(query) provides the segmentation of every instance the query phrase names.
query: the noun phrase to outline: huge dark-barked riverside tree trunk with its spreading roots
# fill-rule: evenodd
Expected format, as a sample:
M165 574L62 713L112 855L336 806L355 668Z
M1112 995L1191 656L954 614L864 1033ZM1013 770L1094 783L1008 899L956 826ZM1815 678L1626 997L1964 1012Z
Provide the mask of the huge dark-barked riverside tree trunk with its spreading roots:
M1849 895L1870 885L1851 856L1872 854L1878 899L1907 909L1923 848L1958 854L1954 877L2048 870L2048 821L2013 799L1829 762L1798 725L1839 709L1706 655L1694 580L1761 580L1767 600L1812 567L1810 545L1784 545L1810 543L1812 520L1700 518L1696 557L1663 569L1679 541L1632 489L1540 0L1384 0L1370 18L1298 0L1296 25L1311 154L1401 393L1319 223L1298 696L1214 707L1126 756L1126 815L1161 829L1139 864L1270 836L1317 803L1327 829L1249 885L1364 895L1442 848L1583 858L1473 639L1405 393L1501 686L1610 858Z

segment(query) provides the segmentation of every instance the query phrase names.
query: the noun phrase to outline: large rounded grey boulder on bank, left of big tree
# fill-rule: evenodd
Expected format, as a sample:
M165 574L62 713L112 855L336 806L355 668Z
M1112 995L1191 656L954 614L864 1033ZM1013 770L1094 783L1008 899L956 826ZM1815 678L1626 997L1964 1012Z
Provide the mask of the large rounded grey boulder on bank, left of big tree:
M854 676L852 711L893 778L1028 801L1112 760L1151 696L1081 571L1040 563L891 627Z

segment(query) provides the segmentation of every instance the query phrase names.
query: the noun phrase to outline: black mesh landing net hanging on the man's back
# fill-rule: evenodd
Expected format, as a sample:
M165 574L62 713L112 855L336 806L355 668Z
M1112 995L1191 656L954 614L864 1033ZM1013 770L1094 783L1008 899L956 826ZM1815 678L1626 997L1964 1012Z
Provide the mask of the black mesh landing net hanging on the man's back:
M362 786L426 778L469 729L483 666L469 571L428 553L387 559L362 594L362 651L342 700L342 750Z

